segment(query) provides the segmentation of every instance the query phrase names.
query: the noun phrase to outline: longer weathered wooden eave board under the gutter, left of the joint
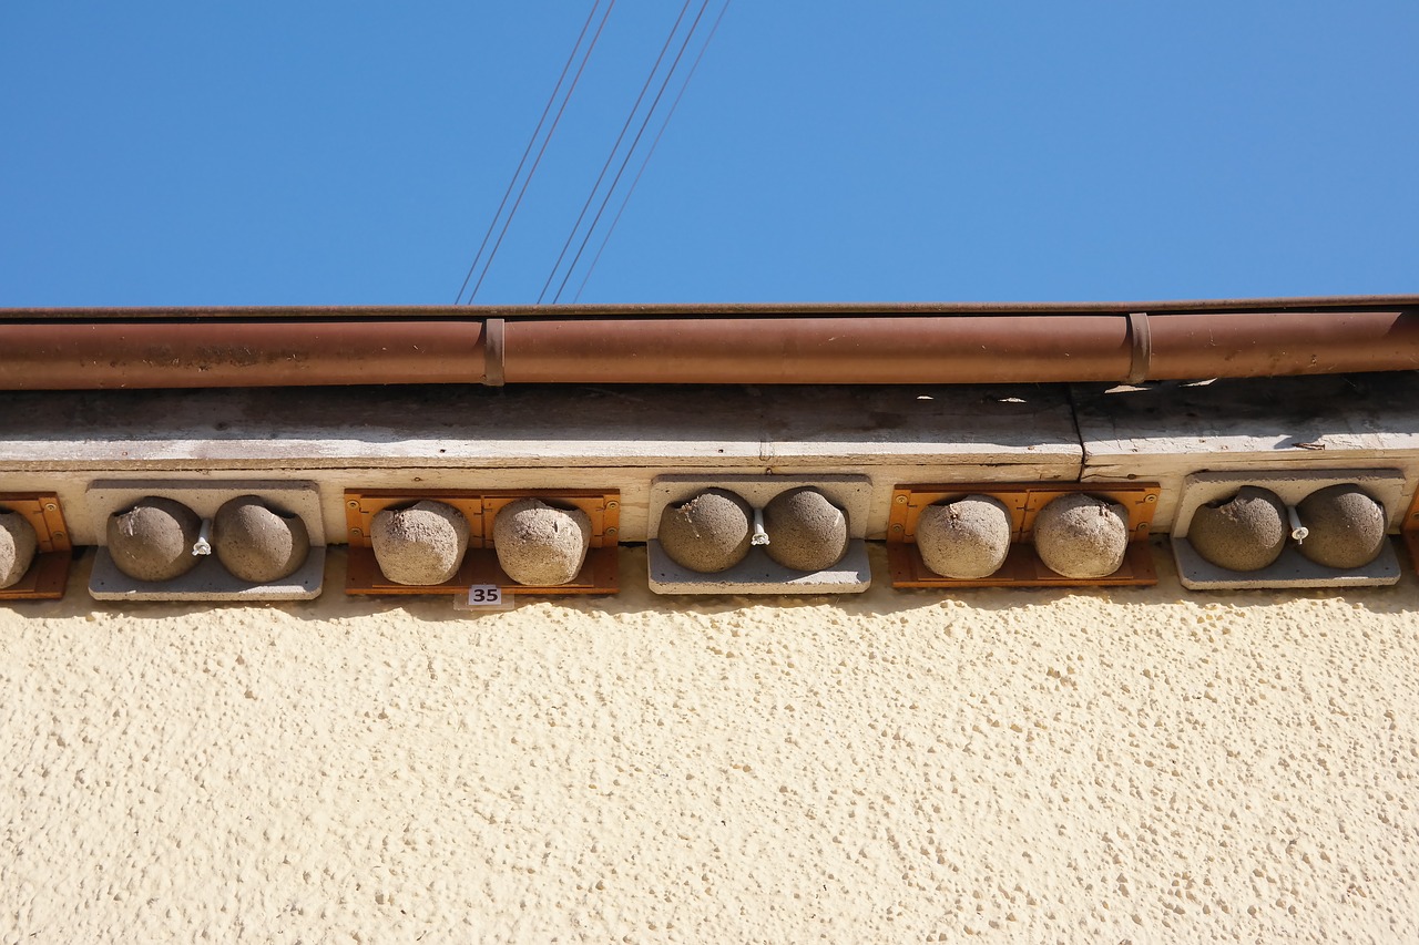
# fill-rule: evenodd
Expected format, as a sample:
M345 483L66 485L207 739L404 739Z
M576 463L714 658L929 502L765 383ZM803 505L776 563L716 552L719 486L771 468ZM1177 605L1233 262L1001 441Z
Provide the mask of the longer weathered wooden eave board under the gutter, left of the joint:
M0 393L0 471L1066 464L1067 392L526 385Z

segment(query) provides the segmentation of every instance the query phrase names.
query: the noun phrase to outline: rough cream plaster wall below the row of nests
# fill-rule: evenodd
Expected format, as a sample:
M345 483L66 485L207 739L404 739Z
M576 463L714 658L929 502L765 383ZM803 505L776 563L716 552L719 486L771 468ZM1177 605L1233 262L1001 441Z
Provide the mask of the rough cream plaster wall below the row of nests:
M0 939L1419 939L1413 575L664 599L622 556L481 617L94 604L88 559L0 606Z

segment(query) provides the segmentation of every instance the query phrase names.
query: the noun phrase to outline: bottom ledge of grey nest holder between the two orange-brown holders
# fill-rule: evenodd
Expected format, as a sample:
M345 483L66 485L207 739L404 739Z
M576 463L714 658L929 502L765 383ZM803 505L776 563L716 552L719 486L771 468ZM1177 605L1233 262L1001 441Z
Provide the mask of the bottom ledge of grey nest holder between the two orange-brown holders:
M748 558L715 575L681 568L658 541L646 542L646 549L650 589L658 595L840 595L860 593L873 582L867 543L858 538L847 543L843 560L809 573L779 565L762 548L749 549Z

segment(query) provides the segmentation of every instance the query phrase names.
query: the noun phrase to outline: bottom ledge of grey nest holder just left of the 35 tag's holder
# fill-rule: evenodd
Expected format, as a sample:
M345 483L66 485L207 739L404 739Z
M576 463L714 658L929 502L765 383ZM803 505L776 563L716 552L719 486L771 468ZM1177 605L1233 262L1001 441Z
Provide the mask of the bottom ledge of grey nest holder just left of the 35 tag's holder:
M325 578L325 548L311 548L294 575L267 585L251 585L221 566L209 555L182 578L150 582L133 580L118 569L106 548L99 548L89 575L89 595L95 600L309 600L318 597Z

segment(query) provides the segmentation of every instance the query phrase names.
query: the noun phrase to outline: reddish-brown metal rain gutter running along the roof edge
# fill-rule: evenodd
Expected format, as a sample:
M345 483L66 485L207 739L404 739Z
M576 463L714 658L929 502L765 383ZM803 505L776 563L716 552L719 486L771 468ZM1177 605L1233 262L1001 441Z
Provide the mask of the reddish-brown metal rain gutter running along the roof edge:
M1412 370L1419 297L0 309L0 389L999 383Z

